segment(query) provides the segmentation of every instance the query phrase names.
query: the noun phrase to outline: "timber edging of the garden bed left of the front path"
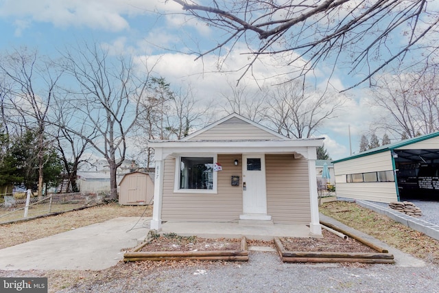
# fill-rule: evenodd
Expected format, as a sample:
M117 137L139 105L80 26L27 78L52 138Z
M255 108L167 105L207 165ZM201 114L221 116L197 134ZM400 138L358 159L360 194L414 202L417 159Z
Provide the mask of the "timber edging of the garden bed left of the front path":
M141 252L148 242L134 248L131 252L123 254L123 261L163 261L163 260L222 260L222 261L248 261L248 248L246 237L241 238L241 250L209 250L209 251L146 251Z

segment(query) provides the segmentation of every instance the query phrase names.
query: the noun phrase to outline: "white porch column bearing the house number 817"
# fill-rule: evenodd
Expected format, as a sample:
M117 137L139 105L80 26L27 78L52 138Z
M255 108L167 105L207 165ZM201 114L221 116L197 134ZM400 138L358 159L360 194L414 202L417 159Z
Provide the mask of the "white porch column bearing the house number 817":
M156 155L157 150L156 150ZM152 207L151 228L161 231L162 227L162 202L163 202L163 159L160 155L156 159L156 174L154 180L154 206Z

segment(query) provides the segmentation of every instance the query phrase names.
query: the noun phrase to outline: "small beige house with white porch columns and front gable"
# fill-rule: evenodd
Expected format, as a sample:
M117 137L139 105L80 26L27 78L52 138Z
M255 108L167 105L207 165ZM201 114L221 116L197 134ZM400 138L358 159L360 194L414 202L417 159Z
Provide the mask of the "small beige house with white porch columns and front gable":
M316 148L237 114L180 141L150 141L156 172L151 228L163 221L309 224L321 235Z

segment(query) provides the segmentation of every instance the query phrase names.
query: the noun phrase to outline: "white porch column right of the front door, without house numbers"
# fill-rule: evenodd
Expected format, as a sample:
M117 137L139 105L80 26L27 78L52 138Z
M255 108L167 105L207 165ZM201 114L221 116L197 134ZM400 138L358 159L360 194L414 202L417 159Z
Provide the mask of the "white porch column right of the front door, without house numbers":
M322 226L318 216L318 192L316 174L316 147L308 148L308 176L309 176L309 202L311 204L311 223L309 230L311 234L322 235Z

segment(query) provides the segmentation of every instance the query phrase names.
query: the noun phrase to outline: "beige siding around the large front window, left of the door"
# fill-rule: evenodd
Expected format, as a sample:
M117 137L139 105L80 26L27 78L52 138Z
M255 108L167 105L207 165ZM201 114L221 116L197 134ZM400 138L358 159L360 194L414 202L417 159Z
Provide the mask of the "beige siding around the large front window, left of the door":
M239 160L235 166L233 161ZM165 221L228 222L237 220L242 213L241 154L218 154L222 171L217 176L217 194L174 194L176 159L165 160L163 177L163 210ZM231 186L231 176L239 176L239 186Z

